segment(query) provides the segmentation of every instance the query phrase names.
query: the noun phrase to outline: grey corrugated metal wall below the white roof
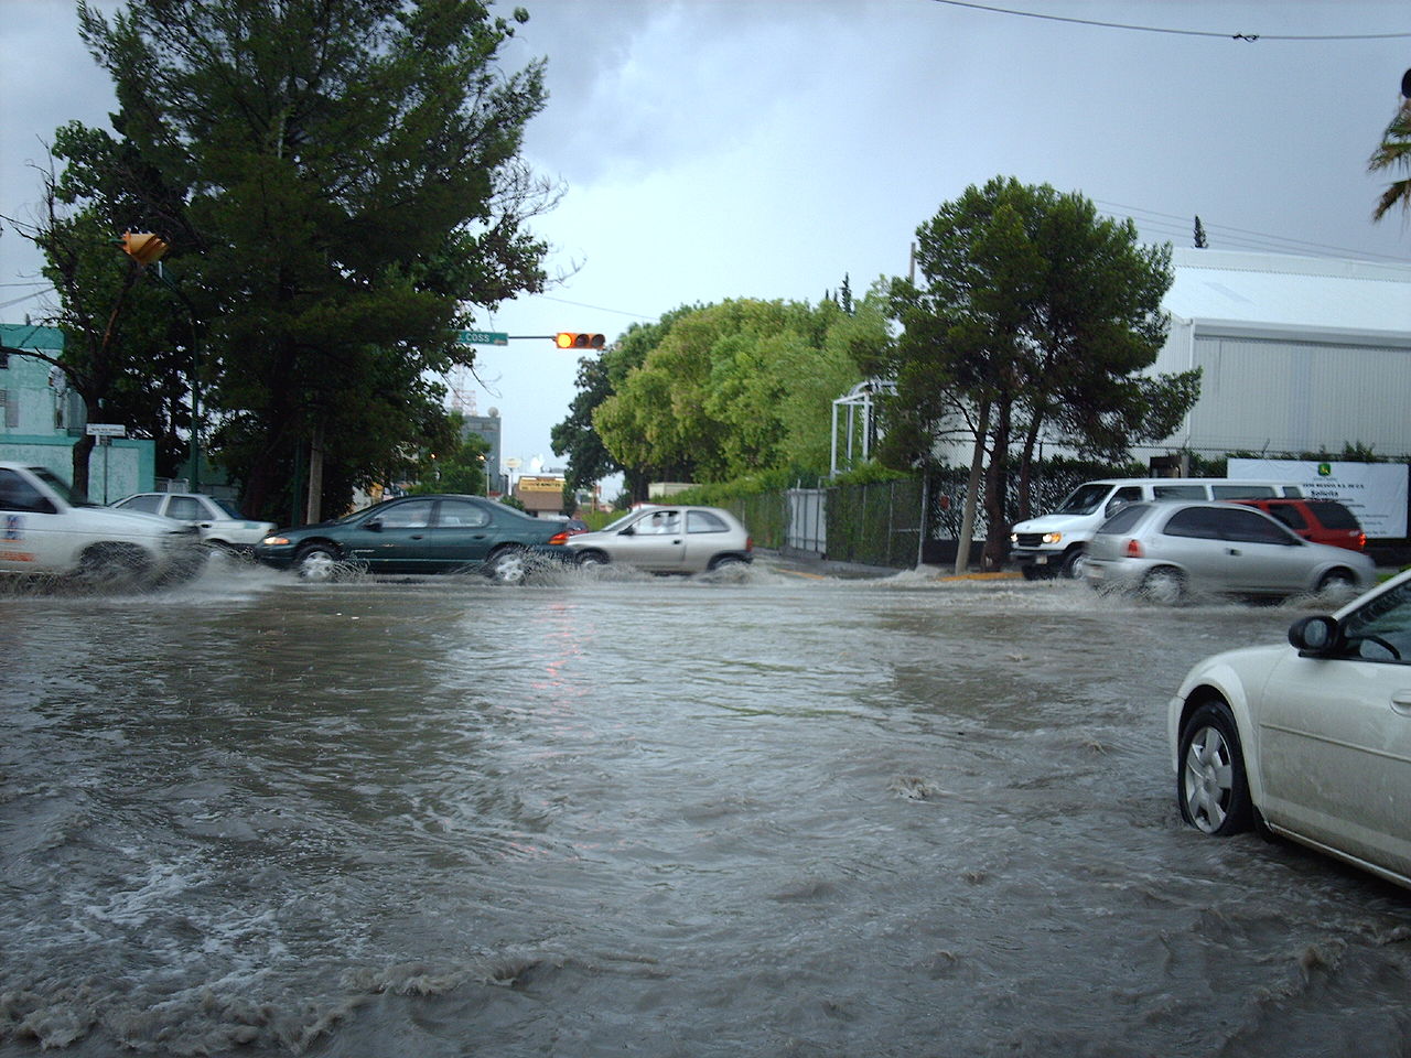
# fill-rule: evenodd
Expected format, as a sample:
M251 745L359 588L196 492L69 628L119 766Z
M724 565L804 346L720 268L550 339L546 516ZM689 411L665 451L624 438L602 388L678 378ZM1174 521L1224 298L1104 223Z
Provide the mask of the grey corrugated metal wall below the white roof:
M1411 350L1197 333L1195 364L1195 450L1411 454Z

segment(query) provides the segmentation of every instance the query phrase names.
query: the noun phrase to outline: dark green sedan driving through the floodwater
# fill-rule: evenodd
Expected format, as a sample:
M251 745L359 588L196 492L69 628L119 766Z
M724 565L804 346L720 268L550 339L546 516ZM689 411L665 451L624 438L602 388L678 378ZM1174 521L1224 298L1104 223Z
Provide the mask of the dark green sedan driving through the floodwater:
M255 559L309 580L339 570L460 573L481 570L518 584L536 560L563 557L563 523L521 513L483 497L388 499L336 522L281 529L255 546Z

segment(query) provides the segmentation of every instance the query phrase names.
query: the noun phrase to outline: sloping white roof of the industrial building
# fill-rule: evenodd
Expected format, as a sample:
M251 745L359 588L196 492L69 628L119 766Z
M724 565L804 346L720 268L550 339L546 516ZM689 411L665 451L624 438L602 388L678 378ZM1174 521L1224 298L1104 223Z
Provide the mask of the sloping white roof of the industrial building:
M1411 264L1178 247L1163 302L1199 330L1411 340Z

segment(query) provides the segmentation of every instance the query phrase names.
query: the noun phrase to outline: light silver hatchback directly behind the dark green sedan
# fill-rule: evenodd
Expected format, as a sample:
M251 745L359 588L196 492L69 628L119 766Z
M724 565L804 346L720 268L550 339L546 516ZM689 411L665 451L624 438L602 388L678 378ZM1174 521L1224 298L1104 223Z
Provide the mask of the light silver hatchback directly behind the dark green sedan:
M753 560L753 540L718 506L645 506L564 546L580 566L624 563L649 573L706 573Z

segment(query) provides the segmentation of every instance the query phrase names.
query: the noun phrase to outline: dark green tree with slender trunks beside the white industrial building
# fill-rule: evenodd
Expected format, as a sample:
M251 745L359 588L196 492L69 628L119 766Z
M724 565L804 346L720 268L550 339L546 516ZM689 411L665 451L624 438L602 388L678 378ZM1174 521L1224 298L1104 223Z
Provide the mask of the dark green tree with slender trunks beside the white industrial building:
M998 564L1012 458L1024 511L1040 439L1112 457L1194 405L1198 372L1140 374L1165 340L1170 247L1140 245L1078 193L995 178L917 229L916 260L921 282L892 288L902 336L869 364L897 382L882 457L926 464L945 430L968 434Z

